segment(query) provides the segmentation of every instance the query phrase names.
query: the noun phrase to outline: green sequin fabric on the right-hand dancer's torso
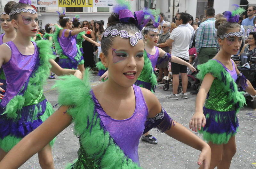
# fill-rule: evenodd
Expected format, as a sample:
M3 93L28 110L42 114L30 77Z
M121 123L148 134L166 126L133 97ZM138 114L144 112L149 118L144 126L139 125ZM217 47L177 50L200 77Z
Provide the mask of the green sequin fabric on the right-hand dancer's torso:
M206 99L204 107L220 112L234 110L234 105L229 102L227 92L223 90L220 84L221 81L218 79L212 82L209 97Z

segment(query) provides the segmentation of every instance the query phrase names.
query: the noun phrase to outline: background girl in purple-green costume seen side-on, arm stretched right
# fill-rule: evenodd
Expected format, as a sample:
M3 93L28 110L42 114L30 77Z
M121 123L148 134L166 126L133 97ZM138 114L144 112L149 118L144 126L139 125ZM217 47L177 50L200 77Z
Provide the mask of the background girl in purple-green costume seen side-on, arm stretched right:
M83 73L83 65L78 65L81 61L82 53L79 46L76 44L76 36L78 33L88 30L81 28L71 31L72 20L65 16L65 12L59 16L60 26L56 26L56 32L53 35L53 42L55 44L57 54L60 55L59 65L62 68L77 69L79 66L80 71Z

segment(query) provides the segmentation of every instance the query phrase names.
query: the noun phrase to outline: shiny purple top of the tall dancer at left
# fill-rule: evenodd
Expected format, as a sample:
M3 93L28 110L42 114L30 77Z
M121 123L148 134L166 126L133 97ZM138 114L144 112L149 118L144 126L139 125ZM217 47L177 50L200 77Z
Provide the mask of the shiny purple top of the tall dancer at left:
M11 48L12 56L7 63L2 65L6 75L7 85L4 98L1 102L2 107L5 107L7 103L19 93L23 85L28 83L28 78L38 61L38 49L36 43L32 43L35 46L34 54L23 55L19 52L18 48L12 41L6 42L6 44Z

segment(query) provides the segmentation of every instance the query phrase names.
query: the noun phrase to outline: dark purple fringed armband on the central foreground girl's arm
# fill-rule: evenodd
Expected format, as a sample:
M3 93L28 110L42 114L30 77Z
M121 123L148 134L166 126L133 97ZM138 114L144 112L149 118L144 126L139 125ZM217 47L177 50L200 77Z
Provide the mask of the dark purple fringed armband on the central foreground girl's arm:
M172 123L172 118L162 108L161 112L158 113L154 118L147 119L143 134L148 132L152 128L156 128L156 131L160 131L161 133L163 133L164 131L169 130L172 127ZM173 125L175 124L173 123Z

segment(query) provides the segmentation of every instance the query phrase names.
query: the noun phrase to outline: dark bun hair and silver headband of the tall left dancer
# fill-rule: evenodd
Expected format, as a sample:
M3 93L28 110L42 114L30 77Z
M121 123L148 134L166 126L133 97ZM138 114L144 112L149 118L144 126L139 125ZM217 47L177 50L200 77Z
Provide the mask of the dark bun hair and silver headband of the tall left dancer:
M14 19L14 20L17 20L18 19L18 16L20 15L20 12L13 12L15 10L21 10L21 9L27 9L27 8L33 8L31 5L31 2L30 0L20 0L19 3L16 3L14 1L9 1L5 6L4 6L4 12L10 16L10 20ZM29 10L31 11L30 13L36 13L36 11L33 9L33 10ZM10 15L10 13L13 12L12 15ZM27 11L28 12L28 11Z

